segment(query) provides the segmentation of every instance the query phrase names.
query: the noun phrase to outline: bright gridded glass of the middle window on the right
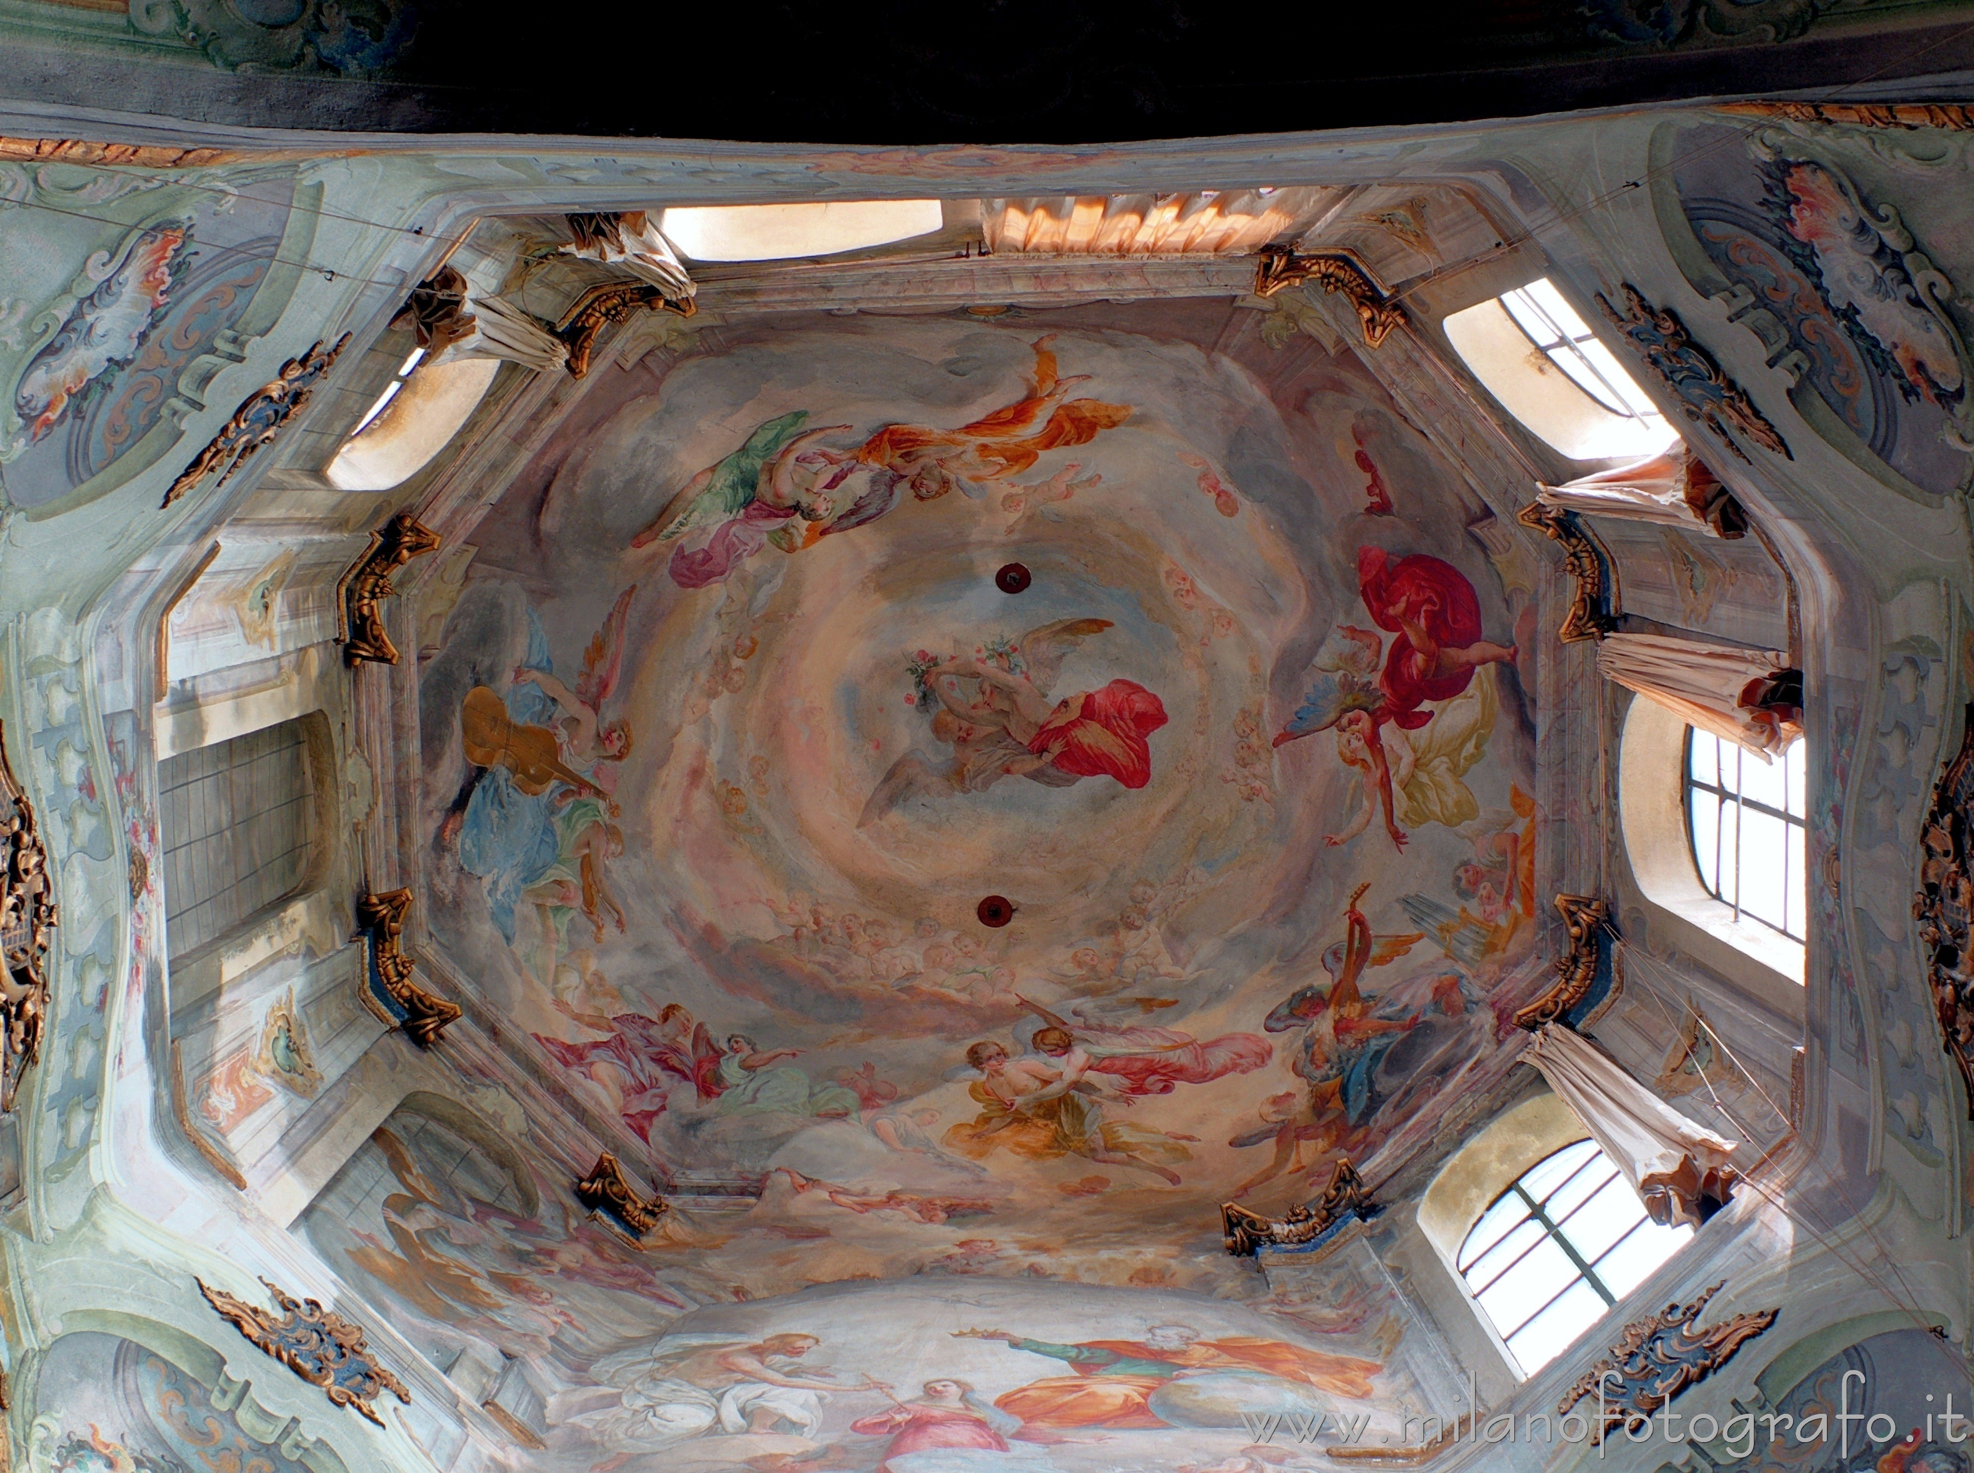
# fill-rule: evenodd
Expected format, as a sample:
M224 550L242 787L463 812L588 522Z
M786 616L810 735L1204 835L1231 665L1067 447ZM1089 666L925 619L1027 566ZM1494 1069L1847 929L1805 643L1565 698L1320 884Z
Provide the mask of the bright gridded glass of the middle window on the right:
M1808 906L1808 742L1763 762L1713 733L1686 729L1686 835L1700 883L1721 904L1804 940Z

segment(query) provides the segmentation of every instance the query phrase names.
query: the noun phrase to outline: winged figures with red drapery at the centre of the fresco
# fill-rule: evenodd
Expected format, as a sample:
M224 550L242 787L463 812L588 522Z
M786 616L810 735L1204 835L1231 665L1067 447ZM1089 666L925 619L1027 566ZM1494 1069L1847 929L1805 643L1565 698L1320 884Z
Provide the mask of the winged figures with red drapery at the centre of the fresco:
M857 827L900 804L985 792L1001 778L1028 778L1044 788L1101 776L1125 788L1151 782L1145 738L1167 721L1157 695L1119 677L1096 691L1048 699L1070 650L1107 628L1107 618L1062 618L1028 630L1015 644L916 667L922 705L932 707L932 735L951 748L951 756L900 756L871 794Z

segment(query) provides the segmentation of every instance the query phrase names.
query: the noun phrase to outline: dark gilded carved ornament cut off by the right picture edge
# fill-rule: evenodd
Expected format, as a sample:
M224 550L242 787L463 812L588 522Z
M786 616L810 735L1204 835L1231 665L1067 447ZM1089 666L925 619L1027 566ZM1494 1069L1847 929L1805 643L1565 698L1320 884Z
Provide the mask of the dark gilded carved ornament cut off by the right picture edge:
M1919 894L1913 918L1927 952L1927 985L1940 1019L1940 1043L1966 1086L1968 1120L1974 1120L1974 705L1962 721L1960 750L1933 786L1933 812L1921 833Z

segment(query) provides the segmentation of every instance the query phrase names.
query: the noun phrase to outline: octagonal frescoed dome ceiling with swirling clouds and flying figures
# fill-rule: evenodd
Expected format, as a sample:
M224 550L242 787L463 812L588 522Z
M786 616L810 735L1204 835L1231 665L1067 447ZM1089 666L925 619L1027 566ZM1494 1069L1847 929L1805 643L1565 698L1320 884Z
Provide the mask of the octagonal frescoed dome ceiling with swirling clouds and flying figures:
M760 1193L748 1293L961 1242L1165 1281L1504 1068L1532 588L1267 316L677 334L472 535L434 940L653 1181Z

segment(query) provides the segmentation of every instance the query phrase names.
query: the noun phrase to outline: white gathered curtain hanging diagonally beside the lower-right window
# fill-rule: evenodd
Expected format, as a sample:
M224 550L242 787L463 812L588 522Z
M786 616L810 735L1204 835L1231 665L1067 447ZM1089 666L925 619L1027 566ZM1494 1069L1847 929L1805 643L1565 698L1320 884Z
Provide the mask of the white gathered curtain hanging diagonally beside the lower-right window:
M1654 1222L1700 1226L1733 1195L1737 1141L1700 1129L1581 1035L1544 1023L1522 1052L1644 1199Z

